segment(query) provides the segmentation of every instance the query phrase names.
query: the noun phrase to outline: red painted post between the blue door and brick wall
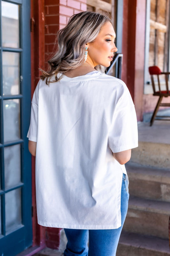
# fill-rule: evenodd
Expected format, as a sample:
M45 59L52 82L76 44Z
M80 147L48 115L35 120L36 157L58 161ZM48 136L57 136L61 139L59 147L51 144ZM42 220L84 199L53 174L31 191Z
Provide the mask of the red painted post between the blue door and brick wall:
M44 68L44 0L31 0L31 95ZM33 246L45 246L45 228L37 223L35 196L35 157L32 156Z

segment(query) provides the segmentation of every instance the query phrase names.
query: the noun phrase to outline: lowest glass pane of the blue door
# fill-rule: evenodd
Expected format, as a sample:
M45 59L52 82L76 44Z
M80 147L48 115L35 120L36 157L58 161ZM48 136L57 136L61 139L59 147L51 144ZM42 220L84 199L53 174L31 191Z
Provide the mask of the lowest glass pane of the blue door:
M5 194L5 228L12 232L21 226L21 188Z

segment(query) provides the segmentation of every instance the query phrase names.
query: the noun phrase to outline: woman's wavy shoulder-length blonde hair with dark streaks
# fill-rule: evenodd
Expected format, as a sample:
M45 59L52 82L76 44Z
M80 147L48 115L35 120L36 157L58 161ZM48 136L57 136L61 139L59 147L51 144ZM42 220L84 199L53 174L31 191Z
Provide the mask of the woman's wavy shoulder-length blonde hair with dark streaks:
M81 66L84 60L85 44L93 42L106 22L112 23L109 17L97 12L80 12L70 17L68 24L57 33L58 49L54 57L48 63L48 71L42 71L42 80L46 79L46 84L61 79L58 72L64 74L70 69ZM98 65L96 70L103 72L105 67ZM55 80L50 80L51 77Z

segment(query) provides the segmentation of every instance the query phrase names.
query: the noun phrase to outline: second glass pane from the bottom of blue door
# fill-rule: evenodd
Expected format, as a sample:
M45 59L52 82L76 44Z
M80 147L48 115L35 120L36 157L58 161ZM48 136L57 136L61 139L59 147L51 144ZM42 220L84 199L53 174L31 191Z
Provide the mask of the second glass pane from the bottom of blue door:
M18 185L21 181L20 144L4 148L5 189Z

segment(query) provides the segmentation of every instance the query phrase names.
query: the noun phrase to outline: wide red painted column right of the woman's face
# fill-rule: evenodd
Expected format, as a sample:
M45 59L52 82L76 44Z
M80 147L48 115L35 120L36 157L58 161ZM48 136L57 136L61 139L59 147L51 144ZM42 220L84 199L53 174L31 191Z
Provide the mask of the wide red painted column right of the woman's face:
M137 119L143 115L145 5L140 0L124 0L122 80L134 100Z

